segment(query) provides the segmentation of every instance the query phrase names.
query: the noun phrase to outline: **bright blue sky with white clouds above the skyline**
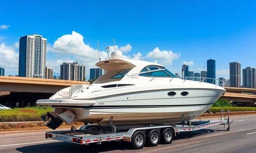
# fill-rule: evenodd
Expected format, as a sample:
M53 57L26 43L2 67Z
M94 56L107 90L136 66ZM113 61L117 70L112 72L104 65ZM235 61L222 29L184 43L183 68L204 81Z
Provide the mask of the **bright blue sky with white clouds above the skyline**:
M164 64L173 73L181 74L184 61L199 72L207 59L216 60L216 77L229 78L229 62L256 67L256 1L46 0L4 1L0 7L5 75L18 74L17 42L28 34L48 40L46 65L55 72L67 61L92 68L97 39L103 57L113 38L126 57Z

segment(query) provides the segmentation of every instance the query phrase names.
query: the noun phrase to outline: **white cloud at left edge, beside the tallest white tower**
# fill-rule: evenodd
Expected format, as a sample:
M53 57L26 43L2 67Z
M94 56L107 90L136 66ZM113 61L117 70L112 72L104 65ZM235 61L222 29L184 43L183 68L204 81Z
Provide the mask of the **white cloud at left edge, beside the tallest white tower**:
M0 45L0 66L5 69L13 69L18 71L19 53L16 53L13 47Z

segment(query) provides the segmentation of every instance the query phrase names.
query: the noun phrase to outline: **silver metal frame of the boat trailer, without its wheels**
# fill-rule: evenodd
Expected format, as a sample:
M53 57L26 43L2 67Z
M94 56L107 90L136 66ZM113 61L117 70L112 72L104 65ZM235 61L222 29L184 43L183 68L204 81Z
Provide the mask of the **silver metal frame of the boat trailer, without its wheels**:
M110 126L107 128L111 128L109 131L102 131L102 127L100 125L84 125L79 130L68 130L68 131L50 131L45 133L45 138L52 138L54 140L60 140L65 142L72 142L76 144L85 144L88 145L90 143L98 143L106 141L132 141L132 135L136 131L146 131L157 129L158 131L163 131L166 128L171 128L173 132L173 137L176 136L176 133L180 132L188 132L188 131L196 131L208 127L212 127L215 125L228 125L227 131L230 130L230 124L232 121L229 120L229 110L228 110L228 118L222 117L223 110L221 110L220 120L207 120L201 121L192 121L187 124L173 124L173 125L144 125L144 127L134 125L134 128L128 128L127 130L120 130L122 132L118 132L118 126L114 126L113 117L110 118ZM71 129L74 129L73 127ZM94 130L100 129L100 130ZM143 146L142 146L143 147Z

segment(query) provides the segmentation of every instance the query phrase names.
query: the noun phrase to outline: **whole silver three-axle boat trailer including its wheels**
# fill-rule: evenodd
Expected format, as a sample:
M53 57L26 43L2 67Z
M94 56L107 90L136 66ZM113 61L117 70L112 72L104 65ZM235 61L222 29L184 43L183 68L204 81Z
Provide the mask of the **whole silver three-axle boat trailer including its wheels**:
M223 110L221 110L221 117L220 120L207 120L202 121L189 121L186 124L174 124L174 125L119 125L114 126L113 117L110 118L110 126L100 126L96 124L84 125L79 130L72 127L71 130L68 131L51 131L45 133L45 138L52 138L55 140L65 141L65 142L72 142L77 144L85 144L88 145L89 143L98 143L106 141L128 141L132 143L132 146L135 149L140 149L144 146L146 141L146 135L150 137L152 131L155 134L159 135L157 138L160 138L165 144L171 143L173 137L180 132L188 132L188 131L196 131L203 128L209 128L216 125L228 125L227 131L230 130L230 124L233 121L229 119L229 110L227 112L227 119L226 115L223 118ZM140 136L140 137L138 137ZM143 139L144 138L144 139ZM152 141L156 141L156 137L152 137ZM144 142L143 142L144 141ZM147 139L150 141L150 139ZM143 142L142 146L139 145ZM149 143L150 144L150 143ZM158 144L158 143L157 143ZM157 145L156 144L156 145ZM153 144L154 146L154 144Z

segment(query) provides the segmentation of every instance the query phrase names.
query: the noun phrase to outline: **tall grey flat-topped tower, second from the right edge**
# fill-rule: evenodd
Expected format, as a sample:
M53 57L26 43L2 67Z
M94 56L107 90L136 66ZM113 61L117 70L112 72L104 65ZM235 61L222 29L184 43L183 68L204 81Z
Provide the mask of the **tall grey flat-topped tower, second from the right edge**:
M229 63L230 87L241 87L241 63Z

